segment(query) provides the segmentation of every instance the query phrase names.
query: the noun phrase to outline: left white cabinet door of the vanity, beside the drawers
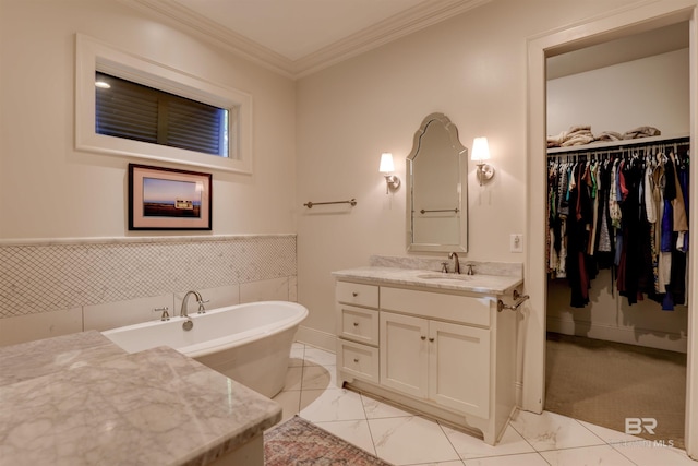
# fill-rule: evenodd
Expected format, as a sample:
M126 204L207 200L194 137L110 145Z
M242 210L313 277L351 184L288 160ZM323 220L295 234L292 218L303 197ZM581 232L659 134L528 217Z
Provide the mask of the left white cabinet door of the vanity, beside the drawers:
M381 384L426 397L428 333L425 319L381 312Z

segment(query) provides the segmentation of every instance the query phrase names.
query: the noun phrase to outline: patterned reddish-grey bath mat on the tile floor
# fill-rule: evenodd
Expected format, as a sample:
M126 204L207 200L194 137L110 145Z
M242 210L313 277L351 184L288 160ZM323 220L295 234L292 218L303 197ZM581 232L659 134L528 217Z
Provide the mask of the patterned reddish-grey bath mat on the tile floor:
M264 433L265 466L390 466L294 416Z

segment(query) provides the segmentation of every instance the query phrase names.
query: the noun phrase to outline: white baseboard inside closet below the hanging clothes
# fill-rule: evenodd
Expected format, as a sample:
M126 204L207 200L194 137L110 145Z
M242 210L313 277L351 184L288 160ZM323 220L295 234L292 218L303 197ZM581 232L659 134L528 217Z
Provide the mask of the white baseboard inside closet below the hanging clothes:
M563 335L586 336L607 342L625 343L648 348L667 349L670 351L686 353L688 339L686 335L658 332L643 328L619 328L606 325L589 324L589 332L575 332L577 326L573 320L547 316L547 331ZM639 337L638 337L639 335Z

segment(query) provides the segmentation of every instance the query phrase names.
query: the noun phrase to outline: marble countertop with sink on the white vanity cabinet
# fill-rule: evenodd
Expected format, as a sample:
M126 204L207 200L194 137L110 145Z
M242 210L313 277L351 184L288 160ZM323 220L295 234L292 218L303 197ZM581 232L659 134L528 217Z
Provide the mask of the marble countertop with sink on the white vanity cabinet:
M430 270L366 266L333 272L336 278L370 280L386 285L418 286L421 288L447 289L506 295L524 283L516 275L456 275Z

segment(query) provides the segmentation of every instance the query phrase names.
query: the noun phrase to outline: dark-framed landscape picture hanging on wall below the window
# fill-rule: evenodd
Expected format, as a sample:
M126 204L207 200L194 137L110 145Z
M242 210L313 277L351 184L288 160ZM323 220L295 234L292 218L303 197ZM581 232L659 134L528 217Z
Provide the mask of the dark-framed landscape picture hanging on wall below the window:
M210 230L212 176L129 164L130 230Z

